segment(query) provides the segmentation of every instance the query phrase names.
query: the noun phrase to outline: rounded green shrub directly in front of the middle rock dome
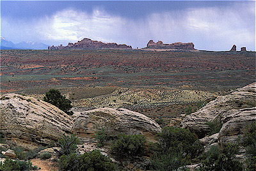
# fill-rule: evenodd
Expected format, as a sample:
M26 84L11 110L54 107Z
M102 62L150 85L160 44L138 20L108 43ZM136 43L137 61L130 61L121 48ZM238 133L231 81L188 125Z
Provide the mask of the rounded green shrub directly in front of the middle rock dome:
M133 156L142 156L147 142L144 135L124 135L120 134L113 140L110 147L111 154L119 159L132 158Z

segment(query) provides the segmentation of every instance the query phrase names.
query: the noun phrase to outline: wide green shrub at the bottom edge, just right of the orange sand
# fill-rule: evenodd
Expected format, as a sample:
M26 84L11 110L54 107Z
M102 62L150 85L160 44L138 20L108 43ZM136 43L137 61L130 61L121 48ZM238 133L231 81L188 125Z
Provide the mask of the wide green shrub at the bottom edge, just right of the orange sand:
M77 154L63 155L60 157L61 170L83 171L83 170L99 170L111 171L115 170L115 164L108 157L100 154L99 151L85 152L81 156Z

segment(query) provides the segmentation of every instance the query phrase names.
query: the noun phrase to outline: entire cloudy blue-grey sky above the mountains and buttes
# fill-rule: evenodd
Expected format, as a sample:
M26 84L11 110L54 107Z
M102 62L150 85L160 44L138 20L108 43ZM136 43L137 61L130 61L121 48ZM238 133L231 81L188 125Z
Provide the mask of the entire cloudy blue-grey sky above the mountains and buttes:
M1 36L67 45L83 38L132 48L149 40L198 50L255 51L255 1L1 1Z

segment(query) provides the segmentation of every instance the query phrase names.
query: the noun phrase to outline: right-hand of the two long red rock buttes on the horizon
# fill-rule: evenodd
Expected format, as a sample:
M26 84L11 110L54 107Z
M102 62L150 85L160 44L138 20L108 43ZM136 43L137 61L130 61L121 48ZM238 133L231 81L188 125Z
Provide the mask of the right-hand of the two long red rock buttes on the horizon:
M148 41L147 48L168 48L173 50L195 50L193 43L172 43L164 44L163 41L157 41L156 43L153 40Z

